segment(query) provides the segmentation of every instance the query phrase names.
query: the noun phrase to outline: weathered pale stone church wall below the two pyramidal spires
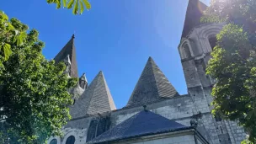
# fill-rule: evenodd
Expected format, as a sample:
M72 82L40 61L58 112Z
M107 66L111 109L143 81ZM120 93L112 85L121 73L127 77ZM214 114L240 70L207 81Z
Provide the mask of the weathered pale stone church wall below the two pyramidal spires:
M198 131L200 131L202 136L204 136L211 144L226 144L227 142L237 144L242 141L245 137L243 128L237 126L236 123L231 121L221 120L216 122L216 119L210 113L207 101L204 97L205 95L202 94L198 96L178 96L172 99L164 99L154 104L148 104L147 109L158 115L163 115L169 120L175 120L182 125L189 126L190 120L197 120ZM203 98L204 100L202 100ZM198 103L195 103L195 100L197 100ZM201 106L196 106L197 104L200 104ZM199 109L201 112L199 112ZM109 128L120 124L132 115L136 115L141 110L143 110L142 106L112 111L108 114L110 115ZM56 136L56 139L61 139L60 144L65 144L68 136L75 136L75 144L85 144L91 121L100 119L103 115L91 115L69 121L63 128L64 136L61 138ZM50 143L51 139L49 139L48 143Z

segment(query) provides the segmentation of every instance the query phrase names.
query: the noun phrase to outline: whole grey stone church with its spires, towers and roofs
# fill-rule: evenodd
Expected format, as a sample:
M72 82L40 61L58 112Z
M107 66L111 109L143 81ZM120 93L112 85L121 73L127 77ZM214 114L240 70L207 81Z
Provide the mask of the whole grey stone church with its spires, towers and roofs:
M200 24L207 6L189 0L179 54L188 93L180 95L152 57L148 58L131 98L116 109L103 72L91 83L85 75L70 93L72 120L48 144L238 144L245 138L236 122L211 115L215 83L205 67L223 24ZM77 76L74 36L55 57L65 61L70 77ZM168 63L167 63L168 65ZM78 99L76 99L78 98Z

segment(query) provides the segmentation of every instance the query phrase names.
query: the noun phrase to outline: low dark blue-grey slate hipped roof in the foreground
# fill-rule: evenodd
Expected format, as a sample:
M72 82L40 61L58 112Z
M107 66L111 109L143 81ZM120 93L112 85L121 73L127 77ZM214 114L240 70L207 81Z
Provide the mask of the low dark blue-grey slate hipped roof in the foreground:
M169 131L182 131L190 128L190 126L181 125L161 115L152 113L151 111L143 110L119 125L115 125L115 127L109 131L105 131L88 143L93 144L105 141L124 140L137 136L149 136Z

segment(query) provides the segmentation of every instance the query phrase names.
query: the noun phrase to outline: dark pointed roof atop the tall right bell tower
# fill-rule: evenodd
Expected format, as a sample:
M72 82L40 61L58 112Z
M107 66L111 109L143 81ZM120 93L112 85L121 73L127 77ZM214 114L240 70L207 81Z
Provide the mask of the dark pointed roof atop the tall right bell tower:
M206 8L205 3L201 3L199 0L189 0L182 38L189 35L190 30L200 24L200 17L203 16L203 11L205 11Z

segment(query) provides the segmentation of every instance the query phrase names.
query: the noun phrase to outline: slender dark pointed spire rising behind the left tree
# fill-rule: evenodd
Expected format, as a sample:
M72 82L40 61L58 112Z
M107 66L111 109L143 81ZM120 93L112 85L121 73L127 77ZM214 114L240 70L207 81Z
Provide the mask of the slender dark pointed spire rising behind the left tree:
M70 75L71 77L78 77L77 74L77 55L76 55L76 48L74 44L75 35L72 35L71 40L67 42L61 51L55 56L54 60L57 62L64 61L69 55L71 61L71 68L70 68Z

